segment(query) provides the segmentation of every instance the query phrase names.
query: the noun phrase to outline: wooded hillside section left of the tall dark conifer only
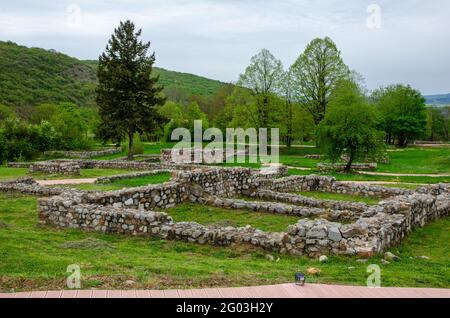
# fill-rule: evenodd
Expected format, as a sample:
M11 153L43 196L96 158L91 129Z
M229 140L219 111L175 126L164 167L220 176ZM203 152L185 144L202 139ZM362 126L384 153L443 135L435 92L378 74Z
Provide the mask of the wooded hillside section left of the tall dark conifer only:
M75 58L0 41L0 103L95 105L95 70Z

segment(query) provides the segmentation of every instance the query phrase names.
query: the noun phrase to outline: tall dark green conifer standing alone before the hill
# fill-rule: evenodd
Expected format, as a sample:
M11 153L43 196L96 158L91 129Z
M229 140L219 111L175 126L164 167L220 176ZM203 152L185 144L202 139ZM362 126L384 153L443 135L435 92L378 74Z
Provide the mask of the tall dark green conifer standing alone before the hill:
M152 77L155 53L148 55L150 42L139 40L141 30L134 24L120 22L99 57L97 104L103 136L128 138L128 159L133 158L133 136L136 132L152 132L165 123L158 108L165 102ZM106 134L105 131L110 131Z

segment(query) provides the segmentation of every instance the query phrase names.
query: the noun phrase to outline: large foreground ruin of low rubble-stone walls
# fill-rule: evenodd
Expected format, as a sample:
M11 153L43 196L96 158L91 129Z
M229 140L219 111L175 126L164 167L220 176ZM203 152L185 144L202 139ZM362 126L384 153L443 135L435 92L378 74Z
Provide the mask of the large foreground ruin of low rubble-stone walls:
M325 176L280 177L244 168L174 172L163 184L118 191L76 191L39 186L32 179L0 183L39 199L39 222L57 228L157 236L199 244L248 244L290 255L371 257L399 244L414 226L448 216L450 185L417 191L338 182ZM317 200L296 192L322 191L382 199L377 205ZM230 209L294 215L285 232L246 226L219 227L174 222L164 211L184 202Z

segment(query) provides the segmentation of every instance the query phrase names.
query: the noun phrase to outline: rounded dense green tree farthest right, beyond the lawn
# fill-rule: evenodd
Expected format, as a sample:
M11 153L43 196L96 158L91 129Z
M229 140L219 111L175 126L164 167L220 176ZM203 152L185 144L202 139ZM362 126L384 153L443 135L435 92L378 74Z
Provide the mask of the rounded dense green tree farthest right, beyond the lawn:
M411 86L391 85L372 95L382 115L386 142L399 146L423 137L426 131L425 98Z

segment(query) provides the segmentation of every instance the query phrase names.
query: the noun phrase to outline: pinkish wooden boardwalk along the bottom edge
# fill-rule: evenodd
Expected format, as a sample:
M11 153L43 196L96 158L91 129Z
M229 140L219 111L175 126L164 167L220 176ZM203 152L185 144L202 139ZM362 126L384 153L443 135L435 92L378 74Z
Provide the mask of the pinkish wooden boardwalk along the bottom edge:
M191 290L33 291L3 293L0 298L450 298L450 289L282 284Z

